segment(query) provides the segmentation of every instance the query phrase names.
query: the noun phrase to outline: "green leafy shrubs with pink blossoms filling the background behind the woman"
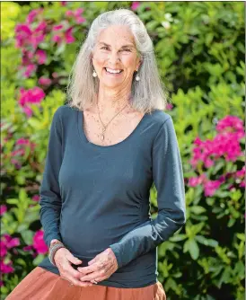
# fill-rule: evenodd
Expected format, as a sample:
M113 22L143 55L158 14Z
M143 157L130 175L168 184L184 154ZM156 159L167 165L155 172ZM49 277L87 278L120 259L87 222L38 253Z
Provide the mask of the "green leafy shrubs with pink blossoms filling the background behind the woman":
M244 299L243 2L1 3L1 299L48 254L39 189L52 116L92 20L129 8L170 93L187 223L158 247L168 300ZM156 216L156 190L151 190ZM38 299L37 299L38 300Z

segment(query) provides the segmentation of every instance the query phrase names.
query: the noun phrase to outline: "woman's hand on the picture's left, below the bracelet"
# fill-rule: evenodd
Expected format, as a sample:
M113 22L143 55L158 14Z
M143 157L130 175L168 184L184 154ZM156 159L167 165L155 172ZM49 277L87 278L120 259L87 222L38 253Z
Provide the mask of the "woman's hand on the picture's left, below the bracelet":
M60 273L60 277L64 278L73 285L77 287L91 287L93 286L91 281L81 281L81 272L75 270L71 263L79 265L82 263L82 260L76 258L69 250L66 248L60 248L55 253L54 260L56 262L57 268Z

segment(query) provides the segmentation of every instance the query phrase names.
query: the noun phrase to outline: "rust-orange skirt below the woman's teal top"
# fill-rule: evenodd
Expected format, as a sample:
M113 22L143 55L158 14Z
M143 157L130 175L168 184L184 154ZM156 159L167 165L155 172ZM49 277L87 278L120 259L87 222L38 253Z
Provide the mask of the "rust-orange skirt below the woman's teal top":
M59 275L36 267L5 300L166 300L166 295L159 281L137 288L76 287Z

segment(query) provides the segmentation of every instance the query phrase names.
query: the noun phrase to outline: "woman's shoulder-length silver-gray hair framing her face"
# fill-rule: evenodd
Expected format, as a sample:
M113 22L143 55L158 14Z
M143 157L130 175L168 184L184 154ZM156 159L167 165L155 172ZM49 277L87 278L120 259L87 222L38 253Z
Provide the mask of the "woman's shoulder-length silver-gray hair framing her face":
M75 59L75 64L68 78L68 105L79 110L85 110L96 104L95 95L99 89L99 79L92 77L92 49L100 32L110 25L127 25L133 34L136 50L142 60L138 68L140 81L133 75L131 86L132 107L140 112L165 110L167 93L158 73L154 57L154 46L144 23L131 10L120 8L101 13L90 27L86 40Z

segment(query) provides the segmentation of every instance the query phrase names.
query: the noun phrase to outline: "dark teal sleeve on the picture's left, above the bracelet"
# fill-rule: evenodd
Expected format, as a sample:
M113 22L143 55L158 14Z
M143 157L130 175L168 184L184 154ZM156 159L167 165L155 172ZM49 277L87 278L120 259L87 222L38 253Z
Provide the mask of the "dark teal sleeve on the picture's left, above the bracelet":
M48 152L40 186L40 222L44 229L44 241L48 247L52 239L61 241L59 219L62 202L58 173L62 156L62 127L58 109L53 116L50 127Z

